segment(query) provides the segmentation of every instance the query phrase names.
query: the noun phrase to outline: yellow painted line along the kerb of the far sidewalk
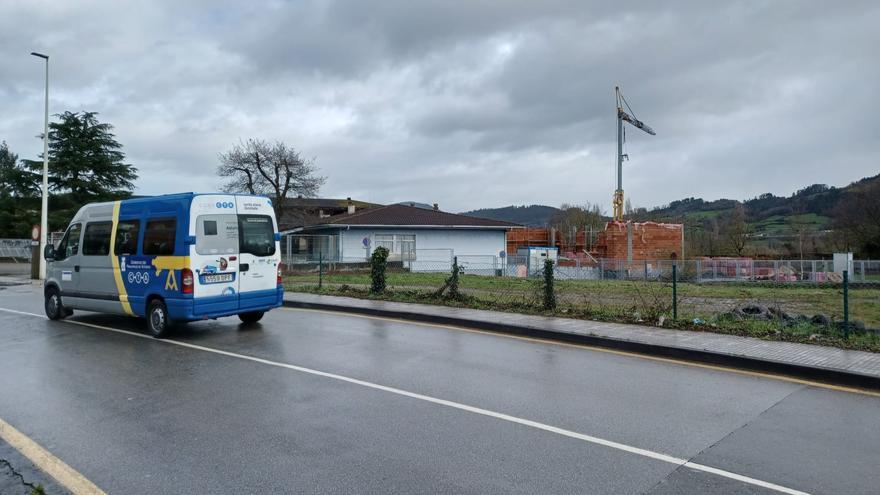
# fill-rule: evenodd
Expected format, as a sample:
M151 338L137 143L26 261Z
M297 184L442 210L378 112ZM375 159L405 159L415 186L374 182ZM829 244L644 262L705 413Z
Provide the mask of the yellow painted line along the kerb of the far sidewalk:
M583 349L583 350L588 350L588 351L604 352L606 354L617 354L618 356L627 356L627 357L633 357L633 358L638 358L638 359L646 359L648 361L657 361L657 362L661 362L661 363L670 363L670 364L678 364L678 365L682 365L682 366L690 366L693 368L703 368L703 369L708 369L708 370L724 371L724 372L728 372L728 373L735 373L738 375L754 376L754 377L759 377L759 378L769 378L772 380L779 380L779 381L789 382L789 383L797 383L800 385L809 385L811 387L824 388L824 389L828 389L828 390L835 390L838 392L848 392L851 394L868 395L871 397L880 397L880 392L874 392L872 390L865 390L865 389L856 388L856 387L846 387L843 385L831 385L830 383L804 380L802 378L794 378L794 377L790 377L790 376L777 375L774 373L766 373L766 372L761 372L761 371L750 371L750 370L743 370L743 369L738 369L738 368L730 368L730 367L719 366L719 365L715 365L715 364L706 364L706 363L698 363L695 361L686 361L686 360L675 359L675 358L650 356L647 354L639 354L637 352L620 351L617 349L608 349L605 347L597 347L597 346L593 346L593 345L589 345L589 344L575 344L575 343L571 343L571 342L561 342L561 341L557 341L557 340L543 339L540 337L527 337L524 335L513 335L513 334L502 333L502 332L493 332L491 330L479 330L476 328L461 327L461 326L456 326L456 325L446 325L446 324L442 324L442 323L428 323L428 322L422 322L422 321L416 321L416 320L407 320L405 318L393 318L393 317L388 317L388 316L373 316L373 315L365 315L365 314L361 314L361 313L349 313L349 312L345 312L345 311L333 311L333 310L312 309L312 308L290 308L290 307L282 307L281 309L283 309L285 311L311 311L314 313L322 313L322 314L327 314L327 315L349 316L352 318L366 318L369 320L390 321L390 322L394 322L394 323L401 323L401 324L407 324L407 325L443 328L443 329L455 330L455 331L459 331L459 332L492 335L495 337L502 337L502 338L506 338L506 339L525 340L527 342L536 342L536 343L540 343L540 344L556 345L556 346L561 346L561 347L571 347L574 349Z

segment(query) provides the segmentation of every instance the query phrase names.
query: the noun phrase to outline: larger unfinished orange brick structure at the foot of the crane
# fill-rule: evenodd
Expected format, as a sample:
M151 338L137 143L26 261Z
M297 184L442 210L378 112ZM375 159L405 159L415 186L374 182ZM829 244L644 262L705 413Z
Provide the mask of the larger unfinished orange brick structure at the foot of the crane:
M597 259L682 259L683 227L680 223L611 221L599 232L591 254Z

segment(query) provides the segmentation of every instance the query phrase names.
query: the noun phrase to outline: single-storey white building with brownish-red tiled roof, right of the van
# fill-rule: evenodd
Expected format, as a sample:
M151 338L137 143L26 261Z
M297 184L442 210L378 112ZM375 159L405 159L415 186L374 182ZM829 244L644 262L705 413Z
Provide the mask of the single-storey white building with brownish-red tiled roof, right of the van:
M507 231L520 227L500 220L394 204L312 218L287 243L289 258L359 262L384 246L389 261L400 261L414 271L447 271L453 256L467 270L503 268ZM478 266L479 265L479 266ZM501 266L498 266L501 265Z

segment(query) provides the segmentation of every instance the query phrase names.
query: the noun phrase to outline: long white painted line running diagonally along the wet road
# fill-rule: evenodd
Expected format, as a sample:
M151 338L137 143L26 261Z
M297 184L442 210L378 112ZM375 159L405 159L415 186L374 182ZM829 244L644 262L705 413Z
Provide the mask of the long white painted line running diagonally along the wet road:
M13 310L13 309L0 308L0 311L6 311L9 313L15 313L15 314L26 315L26 316L36 316L39 318L45 318L44 315L41 315L38 313L28 313L25 311L17 311L17 310ZM490 411L488 409L469 406L467 404L462 404L459 402L454 402L454 401L450 401L450 400L446 400L446 399L439 399L436 397L431 397L431 396L419 394L416 392L409 392L407 390L402 390L402 389L394 388L394 387L388 387L386 385L380 385L378 383L372 383L372 382L360 380L357 378L351 378L351 377L347 377L347 376L343 376L343 375L337 375L335 373L328 373L326 371L305 368L303 366L297 366L295 364L281 363L278 361L271 361L269 359L263 359L263 358L258 358L258 357L254 357L254 356L247 356L245 354L237 354L234 352L224 351L221 349L214 349L211 347L205 347L205 346L201 346L198 344L190 344L188 342L181 342L179 340L154 339L153 337L146 335L146 334L136 333L136 332L132 332L129 330L121 330L118 328L105 327L103 325L96 325L94 323L87 323L84 321L77 321L77 320L61 320L61 321L64 323L71 323L71 324L75 324L75 325L96 328L99 330L121 333L121 334L125 334L125 335L130 335L132 337L148 339L148 340L151 340L154 342L165 343L165 344L170 344L170 345L177 345L180 347L187 347L189 349L210 352L213 354L219 354L221 356L242 359L242 360L251 361L254 363L260 363L260 364L265 364L268 366L275 366L278 368L285 368L285 369L289 369L289 370L293 370L293 371L299 371L301 373L307 373L310 375L321 376L324 378L330 378L332 380L338 380L341 382L351 383L354 385L360 385L362 387L367 387L367 388L371 388L374 390L381 390L383 392L388 392L388 393L400 395L403 397L409 397L411 399L421 400L424 402L429 402L429 403L437 404L440 406L451 407L453 409L459 409L461 411L467 411L470 413L479 414L479 415L487 416L490 418L500 419L502 421L507 421L510 423L528 426L528 427L535 428L538 430L543 430L546 432L555 433L557 435L562 435L565 437L574 438L577 440L582 440L584 442L592 443L595 445L602 445L604 447L612 448L615 450L620 450L622 452L628 452L630 454L635 454L635 455L639 455L642 457L647 457L649 459L654 459L654 460L666 462L669 464L674 464L676 466L680 466L680 467L683 466L683 467L687 467L687 468L694 469L697 471L703 471L706 473L714 474L716 476L721 476L724 478L729 478L732 480L740 481L742 483L747 483L750 485L759 486L761 488L766 488L768 490L777 491L779 493L786 493L789 495L808 495L807 492L795 490L793 488L788 488L788 487L785 487L782 485L777 485L775 483L770 483L768 481L763 481L763 480L759 480L756 478L751 478L751 477L744 476L744 475L737 474L737 473L733 473L730 471L725 471L723 469L714 468L714 467L707 466L704 464L691 462L691 461L688 461L687 459L682 459L679 457L663 454L661 452L655 452L652 450L642 449L639 447L634 447L632 445L626 445L623 443L615 442L613 440L606 440L604 438L594 437L592 435L586 435L584 433L578 433L576 431L566 430L564 428L559 428L556 426L552 426L552 425L548 425L548 424L544 424L544 423L539 423L537 421L532 421L530 419L520 418L517 416L511 416L509 414Z

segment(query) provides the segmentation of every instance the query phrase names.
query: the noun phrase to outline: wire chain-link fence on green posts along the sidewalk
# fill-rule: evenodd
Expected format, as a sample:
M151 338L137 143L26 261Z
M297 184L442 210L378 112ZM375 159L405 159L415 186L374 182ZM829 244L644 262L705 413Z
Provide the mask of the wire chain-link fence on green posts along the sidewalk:
M844 285L843 274L833 271L831 261L719 261L588 264L560 259L552 269L556 313L661 325L677 321L706 330L818 341L852 330L855 339L864 339L867 348L880 351L880 283L874 282L880 262L853 262ZM462 298L449 301L443 289L455 263L461 271ZM388 292L383 297L543 311L547 294L543 268L522 256L416 250L410 260L388 262ZM285 269L289 290L357 296L370 287L370 265L362 259L320 260Z

